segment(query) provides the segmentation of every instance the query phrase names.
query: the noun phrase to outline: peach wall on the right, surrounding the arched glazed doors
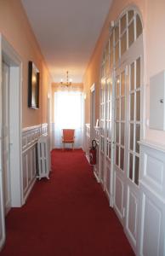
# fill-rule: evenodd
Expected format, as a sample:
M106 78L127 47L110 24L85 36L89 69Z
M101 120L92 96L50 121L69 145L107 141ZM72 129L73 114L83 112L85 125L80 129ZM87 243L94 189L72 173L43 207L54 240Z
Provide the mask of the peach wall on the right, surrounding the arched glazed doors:
M144 24L144 88L145 88L145 139L154 141L156 143L165 144L165 132L154 131L147 126L149 120L149 82L150 77L165 69L165 1L151 1L151 0L116 0L113 1L111 10L105 20L100 38L95 46L94 53L88 64L88 68L83 77L84 90L88 94L86 104L86 122L89 122L89 88L91 84L96 83L96 118L99 118L99 84L100 84L100 62L102 59L102 52L105 43L109 37L109 26L111 20L116 20L126 9L128 5L135 5L139 9L142 21Z

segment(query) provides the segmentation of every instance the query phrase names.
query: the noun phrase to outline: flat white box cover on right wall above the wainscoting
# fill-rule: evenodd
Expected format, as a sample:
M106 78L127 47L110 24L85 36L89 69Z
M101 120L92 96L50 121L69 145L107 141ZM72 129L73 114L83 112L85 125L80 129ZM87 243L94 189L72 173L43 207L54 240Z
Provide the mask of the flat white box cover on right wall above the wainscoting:
M165 130L165 71L150 79L150 128Z

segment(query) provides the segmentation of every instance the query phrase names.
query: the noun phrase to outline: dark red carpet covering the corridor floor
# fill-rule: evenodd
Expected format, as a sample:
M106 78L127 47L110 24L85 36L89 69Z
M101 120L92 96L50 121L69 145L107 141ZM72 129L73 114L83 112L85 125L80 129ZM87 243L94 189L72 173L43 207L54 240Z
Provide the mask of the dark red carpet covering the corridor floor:
M52 152L50 180L7 217L2 256L134 255L83 151Z

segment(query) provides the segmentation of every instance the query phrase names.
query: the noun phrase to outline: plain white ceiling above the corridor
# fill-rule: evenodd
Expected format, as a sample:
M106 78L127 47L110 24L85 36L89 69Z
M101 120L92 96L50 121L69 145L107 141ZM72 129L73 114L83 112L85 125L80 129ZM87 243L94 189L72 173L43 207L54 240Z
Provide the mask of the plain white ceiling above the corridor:
M82 82L112 0L21 0L54 79Z

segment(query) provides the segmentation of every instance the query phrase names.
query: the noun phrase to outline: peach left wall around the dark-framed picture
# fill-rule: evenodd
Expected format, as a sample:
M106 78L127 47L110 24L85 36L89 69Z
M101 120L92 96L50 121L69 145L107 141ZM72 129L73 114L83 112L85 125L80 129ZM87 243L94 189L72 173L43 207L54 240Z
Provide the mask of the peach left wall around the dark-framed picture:
M31 31L20 0L0 1L0 32L20 55L23 67L22 126L47 122L47 102L49 74L37 40ZM27 108L28 61L34 61L40 71L40 108Z

